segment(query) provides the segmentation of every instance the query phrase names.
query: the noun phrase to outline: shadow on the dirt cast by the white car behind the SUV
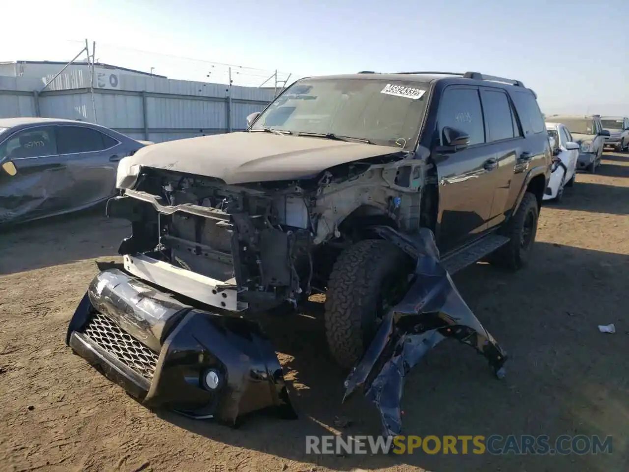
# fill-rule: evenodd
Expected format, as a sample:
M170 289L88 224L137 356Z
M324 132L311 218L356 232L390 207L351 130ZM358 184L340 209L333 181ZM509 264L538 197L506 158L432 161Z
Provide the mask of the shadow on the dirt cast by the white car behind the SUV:
M629 177L629 167L626 169L628 169ZM563 210L611 213L613 215L629 214L629 187L581 182L578 179L579 177L577 177L577 183L574 187L566 189L564 198L559 203L551 201L547 205ZM604 198L601 198L603 195ZM610 205L610 202L613 202L613 205Z

